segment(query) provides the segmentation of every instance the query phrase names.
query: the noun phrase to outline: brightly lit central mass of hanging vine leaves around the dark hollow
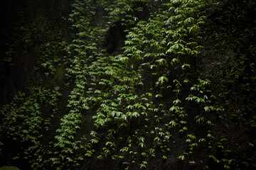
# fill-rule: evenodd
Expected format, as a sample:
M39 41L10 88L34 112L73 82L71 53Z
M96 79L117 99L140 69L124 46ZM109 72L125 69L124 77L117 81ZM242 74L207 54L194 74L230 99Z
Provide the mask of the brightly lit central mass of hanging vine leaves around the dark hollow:
M91 27L90 13L97 14L91 12L92 8L88 8L90 2L77 1L77 4L74 4L74 14L70 15L77 17L77 23L73 27L80 28L80 32L75 35L76 40L73 41L76 43L70 45L68 49L70 52L70 49L74 48L78 53L72 57L74 60L68 58L70 62L72 61L68 72L76 74L75 87L68 104L71 108L70 113L62 119L62 128L58 130L60 135L56 136L59 142L55 146L63 148L63 153L72 155L74 149L79 148L77 143L82 142L75 141L73 136L82 123L81 113L86 114L87 111L92 111L92 107L97 106L96 114L92 115L95 130L85 137L87 157L99 154L98 159L123 160L130 154L132 157L123 162L124 166L139 166L141 169L148 166L151 157L156 157L155 152L158 149L161 150L161 157L168 159L171 143L175 142L171 132L178 130L185 131L186 134L188 130L185 103L196 101L202 103L203 111L217 110L214 106L203 104L210 102L206 95L191 94L188 98L180 98L183 88L186 91L193 85L190 80L189 60L196 57L203 48L198 45L201 40L199 30L206 17L199 11L205 8L205 4L196 1L166 2L161 4L162 8L159 10L139 19L136 13L144 9L132 6L143 1L113 1L114 10L111 2L100 1L97 8L105 8L105 11L109 12L107 18L110 21L105 25L114 24L124 18L121 24L127 28L124 47L119 49L119 54L112 56L105 49L100 49L100 35L104 37L107 31L105 25ZM152 1L145 5L156 6L156 2ZM80 18L85 16L88 21ZM75 19L71 21L75 22ZM169 82L169 79L172 79L172 82ZM193 85L191 90L198 89L200 93L209 93L199 87L210 81L199 81L201 85ZM138 91L139 89L141 91ZM159 103L158 100L167 96L173 96L173 102L168 103L173 106ZM83 109L87 111L82 111ZM195 118L197 123L204 123L201 113ZM210 124L210 120L206 123ZM196 139L195 135L187 136L185 140L188 143L191 139ZM211 136L210 133L208 136ZM93 149L93 146L102 142L105 143L105 147L102 147L101 151ZM154 145L147 146L150 142ZM188 146L193 150L197 145L193 142ZM191 151L189 153L192 154ZM184 154L188 153L184 150ZM75 157L67 156L68 162L74 162ZM82 160L82 157L79 158ZM185 156L181 155L179 158L184 159ZM193 160L191 162L196 163ZM65 166L68 165L65 163Z

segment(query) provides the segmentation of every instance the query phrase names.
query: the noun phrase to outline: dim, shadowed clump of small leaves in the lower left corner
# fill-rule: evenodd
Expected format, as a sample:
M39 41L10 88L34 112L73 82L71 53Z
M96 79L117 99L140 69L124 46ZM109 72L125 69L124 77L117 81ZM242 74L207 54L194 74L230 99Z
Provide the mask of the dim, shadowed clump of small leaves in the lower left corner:
M33 169L38 169L44 162L42 157L48 154L49 146L43 145L42 139L58 114L57 104L61 94L58 87L52 91L40 87L31 87L30 90L29 96L19 92L14 101L1 107L1 147L17 145L18 142L20 148L10 153L12 159L28 159ZM50 108L50 115L42 114L46 108ZM6 143L8 141L11 142ZM52 142L49 144L53 145Z

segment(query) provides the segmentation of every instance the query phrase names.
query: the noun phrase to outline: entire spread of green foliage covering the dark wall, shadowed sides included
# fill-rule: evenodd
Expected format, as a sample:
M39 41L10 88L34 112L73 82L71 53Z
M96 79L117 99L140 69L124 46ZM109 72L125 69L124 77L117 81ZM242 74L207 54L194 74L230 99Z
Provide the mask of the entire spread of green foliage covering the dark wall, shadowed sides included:
M58 87L31 87L31 94L20 92L1 108L1 149L6 141L19 142L22 148L13 159L25 155L33 169L82 169L90 167L95 159L100 162L95 169L105 162L124 169L150 169L156 160L164 164L174 158L188 169L231 169L241 162L242 167L251 167L254 157L238 159L245 147L237 143L239 147L233 148L228 144L232 138L216 129L223 125L220 130L228 130L222 121L228 122L231 117L242 120L247 127L256 125L255 116L249 114L250 122L246 118L252 113L253 102L245 105L253 100L250 92L255 91L255 64L247 63L255 46L250 45L246 54L242 53L243 47L238 48L240 62L229 56L232 69L223 79L223 92L215 91L211 77L193 70L193 60L201 57L204 48L202 28L210 23L206 18L207 2L74 1L68 18L70 41L62 41L59 29L46 33L50 38L41 42L35 68L54 79L60 64L65 67L63 89L68 89L68 99L64 99L60 122L53 128L53 117L63 107L58 106ZM114 52L106 50L110 29L121 26L125 28L124 42ZM244 30L240 42L245 43L250 33ZM223 44L230 37L224 34L219 35L216 29L216 40ZM9 56L13 52L11 47ZM11 58L6 60L11 62ZM241 81L239 77L246 81L242 83L242 90L247 91L242 106L247 110L240 108L230 117L230 101L223 96L238 97L235 91L228 91L228 85ZM221 123L215 125L218 121ZM53 130L50 135L54 134L54 139L46 145L42 141L48 130ZM29 147L23 148L25 144ZM254 145L252 140L247 147ZM177 148L181 149L174 152ZM205 156L203 160L198 153Z

